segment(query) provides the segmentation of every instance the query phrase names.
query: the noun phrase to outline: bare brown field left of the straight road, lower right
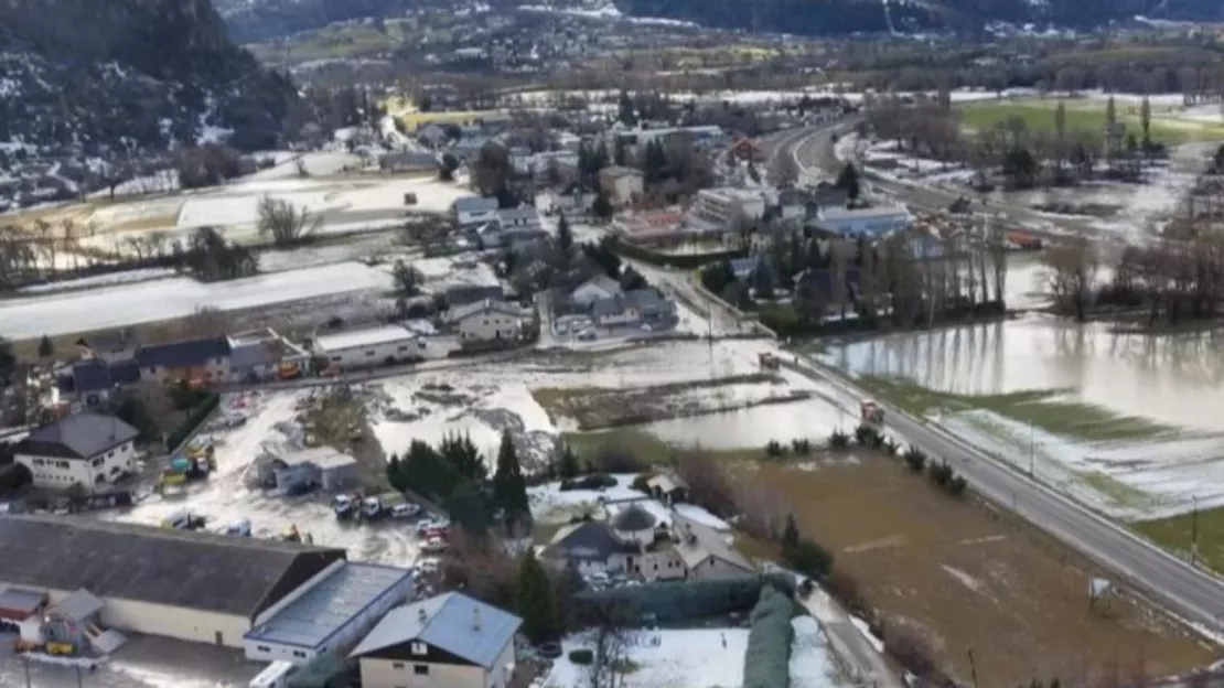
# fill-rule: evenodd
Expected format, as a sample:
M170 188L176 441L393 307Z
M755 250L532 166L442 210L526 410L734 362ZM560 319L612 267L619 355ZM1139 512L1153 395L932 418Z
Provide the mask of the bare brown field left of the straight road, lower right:
M856 460L857 459L857 460ZM900 460L860 454L744 469L792 504L886 624L906 624L962 684L1164 676L1213 649L1125 593L1088 604L1092 564L1009 514L958 501ZM968 652L972 651L973 659Z

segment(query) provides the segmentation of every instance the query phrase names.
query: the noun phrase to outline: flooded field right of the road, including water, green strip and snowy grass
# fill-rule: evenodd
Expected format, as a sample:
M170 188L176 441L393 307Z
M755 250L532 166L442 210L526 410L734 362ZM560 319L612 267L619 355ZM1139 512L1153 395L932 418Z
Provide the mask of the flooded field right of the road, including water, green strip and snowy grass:
M1224 506L1224 332L1047 316L825 345L820 359L1120 518Z

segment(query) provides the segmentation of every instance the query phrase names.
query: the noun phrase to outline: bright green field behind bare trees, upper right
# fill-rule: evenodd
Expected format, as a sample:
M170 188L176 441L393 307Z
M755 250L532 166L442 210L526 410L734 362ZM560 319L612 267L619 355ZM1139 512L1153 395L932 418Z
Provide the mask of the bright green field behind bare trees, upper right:
M1089 131L1099 135L1105 126L1105 103L1100 100L1066 100L1067 131ZM1020 118L1031 131L1054 131L1054 110L1058 100L979 100L957 105L961 124L966 129L990 129L995 122ZM1126 125L1127 133L1140 136L1138 105L1119 103L1118 118ZM1160 114L1152 115L1152 138L1162 143L1224 140L1224 125L1195 121L1160 121Z

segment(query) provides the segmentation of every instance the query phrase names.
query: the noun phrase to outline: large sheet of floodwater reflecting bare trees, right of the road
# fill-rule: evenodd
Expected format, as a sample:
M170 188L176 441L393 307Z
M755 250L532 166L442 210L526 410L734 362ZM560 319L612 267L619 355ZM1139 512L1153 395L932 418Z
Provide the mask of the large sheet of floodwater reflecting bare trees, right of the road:
M1103 324L1031 316L831 345L824 360L962 394L1070 388L1119 414L1224 431L1224 331L1114 334Z

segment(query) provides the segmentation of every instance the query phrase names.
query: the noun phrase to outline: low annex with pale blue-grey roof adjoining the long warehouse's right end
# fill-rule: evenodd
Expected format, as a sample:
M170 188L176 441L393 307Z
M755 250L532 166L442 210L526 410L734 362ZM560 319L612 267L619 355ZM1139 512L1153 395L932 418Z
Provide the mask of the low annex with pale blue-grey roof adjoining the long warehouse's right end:
M246 656L300 665L351 648L412 594L412 585L410 569L335 562L261 615L258 626L244 638Z

